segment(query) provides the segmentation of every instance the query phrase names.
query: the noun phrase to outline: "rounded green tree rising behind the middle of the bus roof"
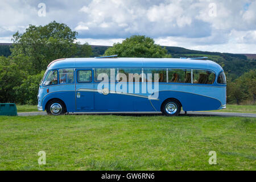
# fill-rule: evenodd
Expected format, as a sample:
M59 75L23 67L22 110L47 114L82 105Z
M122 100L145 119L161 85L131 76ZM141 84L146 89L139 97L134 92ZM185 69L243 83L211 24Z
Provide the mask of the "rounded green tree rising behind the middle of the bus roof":
M166 48L155 44L154 40L146 36L133 35L122 43L115 43L106 50L105 56L118 55L119 57L171 57Z

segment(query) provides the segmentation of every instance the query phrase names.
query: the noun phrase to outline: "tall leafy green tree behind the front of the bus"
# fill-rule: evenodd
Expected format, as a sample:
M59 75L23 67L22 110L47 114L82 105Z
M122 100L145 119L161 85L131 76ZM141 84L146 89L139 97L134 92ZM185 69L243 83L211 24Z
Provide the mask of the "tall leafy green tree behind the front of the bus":
M71 57L77 51L76 31L66 24L55 21L46 26L30 26L26 32L13 35L14 47L11 56L28 56L31 61L30 74L38 74L55 59ZM22 64L22 63L21 63Z

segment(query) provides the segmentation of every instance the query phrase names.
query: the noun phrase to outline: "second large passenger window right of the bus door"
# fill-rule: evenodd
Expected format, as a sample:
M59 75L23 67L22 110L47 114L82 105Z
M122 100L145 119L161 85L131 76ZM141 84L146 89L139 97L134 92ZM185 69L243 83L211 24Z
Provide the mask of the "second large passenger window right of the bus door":
M126 77L126 80L122 78L123 76ZM118 81L142 82L142 69L141 68L119 68Z

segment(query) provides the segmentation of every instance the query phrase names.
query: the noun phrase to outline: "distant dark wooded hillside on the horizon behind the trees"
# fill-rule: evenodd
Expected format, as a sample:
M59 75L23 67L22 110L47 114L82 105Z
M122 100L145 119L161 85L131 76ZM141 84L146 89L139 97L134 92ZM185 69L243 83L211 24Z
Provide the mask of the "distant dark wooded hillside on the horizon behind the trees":
M0 43L0 56L9 56L11 54L10 47L11 43ZM93 55L92 57L104 55L106 49L111 46L92 46ZM209 52L209 51L196 51L186 49L183 47L166 47L167 52L171 53L172 57L204 57L207 56L209 60L213 60L220 64L224 69L226 75L229 78L237 78L244 72L250 69L256 69L256 55L255 54L234 54L234 53L220 53L220 52Z

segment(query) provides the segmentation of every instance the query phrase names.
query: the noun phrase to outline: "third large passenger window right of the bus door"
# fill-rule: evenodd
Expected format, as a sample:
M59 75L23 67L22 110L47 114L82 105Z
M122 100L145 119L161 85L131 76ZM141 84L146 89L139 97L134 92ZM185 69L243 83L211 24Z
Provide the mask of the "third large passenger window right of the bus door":
M144 68L143 73L146 75L147 82L167 82L166 69L160 68ZM156 74L156 75L155 75ZM157 79L158 78L158 79Z

